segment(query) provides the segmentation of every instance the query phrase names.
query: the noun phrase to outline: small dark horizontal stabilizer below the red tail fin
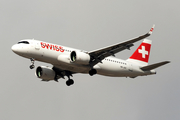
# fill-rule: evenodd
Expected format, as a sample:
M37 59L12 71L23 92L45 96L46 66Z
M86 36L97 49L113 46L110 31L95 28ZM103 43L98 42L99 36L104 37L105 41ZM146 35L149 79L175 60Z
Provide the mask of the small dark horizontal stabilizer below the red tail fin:
M164 61L164 62L160 62L160 63L155 63L155 64L152 64L152 65L142 67L141 69L144 70L144 71L149 71L149 70L155 69L157 67L160 67L162 65L165 65L167 63L170 63L170 61Z

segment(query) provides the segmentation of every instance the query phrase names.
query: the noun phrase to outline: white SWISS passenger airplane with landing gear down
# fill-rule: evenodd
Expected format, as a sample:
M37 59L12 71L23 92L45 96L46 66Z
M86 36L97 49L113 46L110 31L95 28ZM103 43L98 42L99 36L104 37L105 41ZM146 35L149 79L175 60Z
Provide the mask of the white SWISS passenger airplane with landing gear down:
M148 65L152 41L146 38L152 34L154 27L155 25L142 36L93 51L79 50L34 39L21 40L11 49L17 55L30 59L32 63L30 69L35 67L35 60L53 65L53 67L38 66L36 68L35 75L42 81L58 82L58 79L64 79L66 76L68 78L66 85L71 86L74 84L71 77L76 73L90 76L99 74L135 78L156 74L155 68L170 63L170 61L163 61ZM116 53L126 49L130 50L130 47L134 46L133 43L140 40L143 42L127 60L115 57Z

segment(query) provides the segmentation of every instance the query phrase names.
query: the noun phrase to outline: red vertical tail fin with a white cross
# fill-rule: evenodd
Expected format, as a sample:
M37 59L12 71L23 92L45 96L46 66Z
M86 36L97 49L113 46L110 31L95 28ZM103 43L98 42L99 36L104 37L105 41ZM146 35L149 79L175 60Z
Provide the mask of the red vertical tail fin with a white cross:
M141 45L136 49L133 55L128 59L128 61L137 62L138 64L147 65L149 61L151 40L144 39Z

